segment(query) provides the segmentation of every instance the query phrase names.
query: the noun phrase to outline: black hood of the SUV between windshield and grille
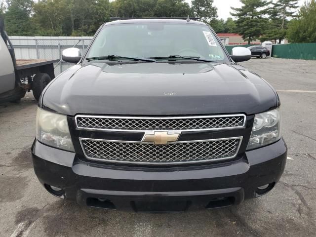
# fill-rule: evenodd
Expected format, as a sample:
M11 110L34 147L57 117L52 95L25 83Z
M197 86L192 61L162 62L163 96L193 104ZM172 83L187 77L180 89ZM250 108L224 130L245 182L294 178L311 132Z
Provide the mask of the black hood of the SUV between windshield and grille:
M71 116L251 115L278 103L264 79L237 64L100 62L60 74L40 106Z

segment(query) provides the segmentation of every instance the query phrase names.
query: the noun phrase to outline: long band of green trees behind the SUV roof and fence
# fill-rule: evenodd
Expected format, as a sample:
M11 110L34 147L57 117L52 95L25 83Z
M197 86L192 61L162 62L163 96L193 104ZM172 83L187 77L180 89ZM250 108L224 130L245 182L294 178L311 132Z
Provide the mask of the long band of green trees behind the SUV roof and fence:
M110 17L199 16L216 32L235 32L232 18L216 19L213 0L0 0L9 35L93 36Z

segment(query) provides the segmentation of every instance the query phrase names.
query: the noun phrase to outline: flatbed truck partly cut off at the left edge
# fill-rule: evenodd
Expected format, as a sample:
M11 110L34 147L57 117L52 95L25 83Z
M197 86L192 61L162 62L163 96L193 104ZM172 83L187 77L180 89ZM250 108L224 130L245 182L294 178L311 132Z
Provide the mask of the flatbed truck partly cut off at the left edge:
M19 102L31 90L39 100L45 86L55 78L54 63L59 60L15 59L2 19L0 36L0 103Z

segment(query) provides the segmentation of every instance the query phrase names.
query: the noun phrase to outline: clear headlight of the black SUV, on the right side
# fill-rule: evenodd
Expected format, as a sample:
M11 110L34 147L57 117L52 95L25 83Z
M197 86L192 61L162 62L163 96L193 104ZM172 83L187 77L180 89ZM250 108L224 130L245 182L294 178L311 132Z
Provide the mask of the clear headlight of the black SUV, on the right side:
M262 147L281 138L280 113L272 110L255 115L247 150Z

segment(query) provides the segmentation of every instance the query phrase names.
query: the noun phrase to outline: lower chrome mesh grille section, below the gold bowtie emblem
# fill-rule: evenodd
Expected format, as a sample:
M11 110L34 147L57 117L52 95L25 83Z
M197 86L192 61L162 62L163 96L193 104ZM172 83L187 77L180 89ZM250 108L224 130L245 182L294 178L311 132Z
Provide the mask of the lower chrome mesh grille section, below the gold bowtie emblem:
M234 158L241 138L176 142L168 145L80 138L86 158L123 163L170 164Z

